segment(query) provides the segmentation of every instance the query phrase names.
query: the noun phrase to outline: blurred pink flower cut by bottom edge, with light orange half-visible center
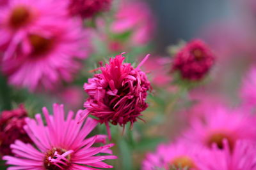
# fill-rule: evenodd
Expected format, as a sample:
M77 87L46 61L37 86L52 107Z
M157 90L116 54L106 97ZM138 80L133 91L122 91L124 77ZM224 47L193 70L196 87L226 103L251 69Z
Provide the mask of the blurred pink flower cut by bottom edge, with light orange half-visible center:
M205 170L202 156L207 152L206 148L186 141L168 145L161 144L157 147L156 153L148 153L146 155L142 170Z

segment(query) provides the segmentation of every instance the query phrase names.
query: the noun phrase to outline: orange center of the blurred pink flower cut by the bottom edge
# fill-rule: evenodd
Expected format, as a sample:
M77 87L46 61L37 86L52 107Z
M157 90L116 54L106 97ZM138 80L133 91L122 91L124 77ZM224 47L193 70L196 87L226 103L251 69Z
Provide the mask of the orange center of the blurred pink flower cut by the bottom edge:
M171 161L170 164L171 168L186 168L186 169L191 169L191 168L195 168L195 164L193 162L193 160L191 160L189 157L187 156L181 156L181 157L177 157L174 160Z

